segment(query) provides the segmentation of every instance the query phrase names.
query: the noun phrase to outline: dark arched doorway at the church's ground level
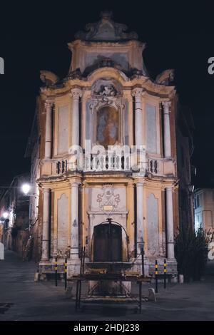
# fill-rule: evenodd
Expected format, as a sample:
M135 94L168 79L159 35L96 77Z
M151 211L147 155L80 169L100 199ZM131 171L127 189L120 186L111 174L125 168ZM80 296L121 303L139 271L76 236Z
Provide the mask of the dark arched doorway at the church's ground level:
M94 227L93 261L122 262L122 230L120 226L111 223Z

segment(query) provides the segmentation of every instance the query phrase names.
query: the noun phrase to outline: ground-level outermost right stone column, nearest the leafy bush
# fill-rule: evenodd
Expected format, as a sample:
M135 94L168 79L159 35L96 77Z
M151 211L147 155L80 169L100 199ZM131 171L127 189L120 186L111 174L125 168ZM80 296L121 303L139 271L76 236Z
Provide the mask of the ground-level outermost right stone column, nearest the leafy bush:
M174 256L174 227L173 227L173 189L166 187L166 249L167 257L175 258Z

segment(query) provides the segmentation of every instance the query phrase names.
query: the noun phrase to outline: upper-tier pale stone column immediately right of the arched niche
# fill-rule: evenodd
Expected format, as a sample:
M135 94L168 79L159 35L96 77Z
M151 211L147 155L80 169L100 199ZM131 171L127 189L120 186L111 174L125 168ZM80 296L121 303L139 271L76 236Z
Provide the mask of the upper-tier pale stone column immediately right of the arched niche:
M143 145L143 114L142 114L143 88L135 88L132 96L135 97L135 144Z

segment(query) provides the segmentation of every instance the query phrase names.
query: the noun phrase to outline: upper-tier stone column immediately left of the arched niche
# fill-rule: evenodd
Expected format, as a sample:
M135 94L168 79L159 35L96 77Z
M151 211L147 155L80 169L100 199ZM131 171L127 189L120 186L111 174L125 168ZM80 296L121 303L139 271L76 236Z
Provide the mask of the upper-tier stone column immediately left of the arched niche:
M71 144L79 145L79 110L78 100L81 98L81 90L73 88L71 90L72 107L71 107Z

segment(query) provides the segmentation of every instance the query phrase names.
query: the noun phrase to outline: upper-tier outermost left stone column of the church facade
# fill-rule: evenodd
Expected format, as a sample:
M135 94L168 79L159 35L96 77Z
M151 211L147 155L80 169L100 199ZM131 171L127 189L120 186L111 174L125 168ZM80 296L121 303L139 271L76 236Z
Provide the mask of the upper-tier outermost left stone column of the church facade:
M45 138L45 158L51 158L52 151L52 105L46 102L46 138Z

